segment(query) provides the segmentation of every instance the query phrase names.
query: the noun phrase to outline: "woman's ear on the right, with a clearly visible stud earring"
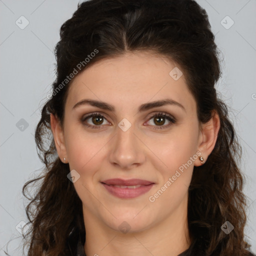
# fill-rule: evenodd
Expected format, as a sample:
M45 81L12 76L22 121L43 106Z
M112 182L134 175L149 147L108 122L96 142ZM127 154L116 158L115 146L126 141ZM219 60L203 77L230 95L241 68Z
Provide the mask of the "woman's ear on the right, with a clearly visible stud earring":
M194 162L195 166L202 165L206 161L208 155L211 153L211 151L215 146L219 127L220 127L220 120L217 112L214 110L212 112L212 117L210 118L210 120L207 121L206 123L202 123L200 126L201 128L200 128L200 135L198 139L197 150L200 151L201 154ZM199 159L200 156L203 157L202 163L201 163L201 160Z

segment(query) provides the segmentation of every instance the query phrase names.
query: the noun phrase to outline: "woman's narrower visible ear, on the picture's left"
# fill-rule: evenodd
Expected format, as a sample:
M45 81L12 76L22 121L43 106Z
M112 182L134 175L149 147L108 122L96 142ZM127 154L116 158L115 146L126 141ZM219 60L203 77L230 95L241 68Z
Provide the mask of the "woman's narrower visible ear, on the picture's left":
M50 114L50 127L53 134L58 157L62 162L64 162L64 157L67 158L66 147L64 143L64 132L60 125L59 119L52 113ZM67 159L65 160L64 163L67 163Z

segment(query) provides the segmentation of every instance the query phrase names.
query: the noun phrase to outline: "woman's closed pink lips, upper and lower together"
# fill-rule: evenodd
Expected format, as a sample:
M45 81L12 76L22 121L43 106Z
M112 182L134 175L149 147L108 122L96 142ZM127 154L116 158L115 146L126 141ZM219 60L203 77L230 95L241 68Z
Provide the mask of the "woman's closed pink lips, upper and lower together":
M148 192L151 187L153 186L153 182L148 180L142 180L142 179L107 179L101 182L102 185L106 188L106 190L111 193L114 196L117 196L119 198L134 198L141 194L144 194ZM114 185L126 185L126 186L132 186L132 185L140 185L136 188L121 188L116 187Z

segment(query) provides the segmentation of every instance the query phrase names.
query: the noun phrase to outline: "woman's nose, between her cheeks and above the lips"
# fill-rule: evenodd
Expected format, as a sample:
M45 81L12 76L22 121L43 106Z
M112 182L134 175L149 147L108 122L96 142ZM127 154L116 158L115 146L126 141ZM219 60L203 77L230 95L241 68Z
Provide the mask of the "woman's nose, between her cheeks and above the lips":
M145 161L145 146L135 134L133 125L126 131L118 126L113 137L109 153L111 164L122 169L131 169L141 165Z

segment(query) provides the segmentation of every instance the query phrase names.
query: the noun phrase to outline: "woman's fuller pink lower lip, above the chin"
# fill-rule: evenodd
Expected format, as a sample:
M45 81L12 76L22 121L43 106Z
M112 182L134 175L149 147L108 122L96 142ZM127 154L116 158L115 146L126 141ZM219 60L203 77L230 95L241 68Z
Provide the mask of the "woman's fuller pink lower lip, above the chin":
M128 187L120 188L113 185L107 185L105 183L102 183L102 185L106 188L106 190L109 193L119 198L134 198L148 192L153 186L153 183L150 185L141 185L136 188L128 188Z

